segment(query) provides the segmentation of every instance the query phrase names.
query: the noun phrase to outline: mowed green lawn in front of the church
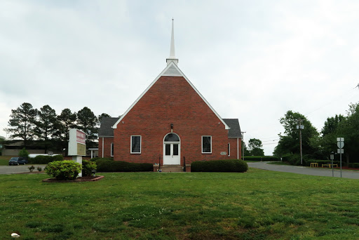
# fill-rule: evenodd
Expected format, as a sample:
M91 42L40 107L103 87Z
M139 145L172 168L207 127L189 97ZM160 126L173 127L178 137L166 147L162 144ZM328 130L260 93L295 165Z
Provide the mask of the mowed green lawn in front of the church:
M359 239L359 181L248 173L0 175L0 238Z

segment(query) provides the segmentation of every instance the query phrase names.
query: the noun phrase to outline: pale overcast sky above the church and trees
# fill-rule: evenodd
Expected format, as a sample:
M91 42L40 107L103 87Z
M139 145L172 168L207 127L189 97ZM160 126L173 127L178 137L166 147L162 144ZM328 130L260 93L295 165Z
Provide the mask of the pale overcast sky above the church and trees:
M271 154L287 110L318 131L359 100L359 1L0 1L0 135L23 102L118 116L179 69Z

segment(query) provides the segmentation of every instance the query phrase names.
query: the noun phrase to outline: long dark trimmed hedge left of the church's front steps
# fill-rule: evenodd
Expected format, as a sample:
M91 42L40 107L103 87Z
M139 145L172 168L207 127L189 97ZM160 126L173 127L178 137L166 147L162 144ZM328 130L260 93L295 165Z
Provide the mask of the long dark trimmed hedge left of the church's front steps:
M127 161L113 161L97 159L97 171L99 172L148 172L154 171L153 164L136 164Z

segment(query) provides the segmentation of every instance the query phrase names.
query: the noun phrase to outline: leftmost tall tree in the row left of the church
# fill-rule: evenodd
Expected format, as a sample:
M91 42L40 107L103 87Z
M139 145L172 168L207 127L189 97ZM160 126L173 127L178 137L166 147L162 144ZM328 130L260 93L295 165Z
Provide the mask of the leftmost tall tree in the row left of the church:
M24 102L17 109L11 110L10 120L8 121L9 128L4 128L4 131L11 134L10 138L24 140L26 147L27 141L34 138L36 116L37 109L34 109L28 102Z

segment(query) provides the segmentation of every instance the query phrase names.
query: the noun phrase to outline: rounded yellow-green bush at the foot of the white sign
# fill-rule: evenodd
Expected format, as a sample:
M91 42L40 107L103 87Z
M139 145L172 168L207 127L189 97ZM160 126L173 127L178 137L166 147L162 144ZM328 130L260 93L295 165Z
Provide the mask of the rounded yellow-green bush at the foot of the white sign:
M46 166L45 171L56 180L75 180L81 173L82 166L72 160L53 161Z

